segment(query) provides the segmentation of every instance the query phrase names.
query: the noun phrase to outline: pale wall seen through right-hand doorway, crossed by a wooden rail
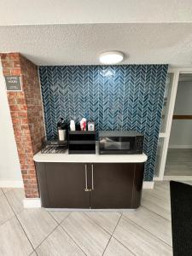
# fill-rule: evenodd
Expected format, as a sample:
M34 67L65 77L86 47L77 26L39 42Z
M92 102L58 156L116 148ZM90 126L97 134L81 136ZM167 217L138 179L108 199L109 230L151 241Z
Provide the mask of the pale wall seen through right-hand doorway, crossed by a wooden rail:
M192 82L178 83L174 114L192 115ZM192 148L192 120L172 120L169 148Z

